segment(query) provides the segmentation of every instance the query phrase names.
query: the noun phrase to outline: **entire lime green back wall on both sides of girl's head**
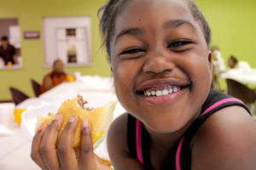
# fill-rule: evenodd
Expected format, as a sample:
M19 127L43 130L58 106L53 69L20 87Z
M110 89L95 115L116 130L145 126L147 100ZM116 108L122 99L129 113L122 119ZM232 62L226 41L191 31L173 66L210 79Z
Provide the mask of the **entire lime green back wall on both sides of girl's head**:
M11 99L9 86L33 96L30 78L41 82L49 69L44 68L44 16L90 16L92 25L92 66L67 68L68 73L110 76L106 54L102 52L96 11L105 0L0 0L0 18L18 18L23 31L40 31L39 40L21 40L23 68L0 70L0 100ZM247 60L256 68L256 1L254 0L196 0L212 27L212 44L218 44L226 60L230 54Z

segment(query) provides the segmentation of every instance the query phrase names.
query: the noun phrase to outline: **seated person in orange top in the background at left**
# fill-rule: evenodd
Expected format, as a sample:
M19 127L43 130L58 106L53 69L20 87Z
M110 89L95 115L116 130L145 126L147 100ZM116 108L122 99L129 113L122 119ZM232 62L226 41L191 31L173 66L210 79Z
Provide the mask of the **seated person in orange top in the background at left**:
M43 83L41 85L41 94L54 88L61 82L72 82L71 76L64 72L64 64L61 59L56 59L53 63L53 71L50 71L44 76Z

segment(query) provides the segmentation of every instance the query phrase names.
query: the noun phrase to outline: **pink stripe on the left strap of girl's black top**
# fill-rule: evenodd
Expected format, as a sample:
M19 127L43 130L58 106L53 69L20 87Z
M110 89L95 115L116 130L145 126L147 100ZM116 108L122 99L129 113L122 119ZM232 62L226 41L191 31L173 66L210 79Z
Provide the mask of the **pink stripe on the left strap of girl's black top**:
M136 147L137 147L137 158L143 163L143 150L142 150L142 122L136 119Z

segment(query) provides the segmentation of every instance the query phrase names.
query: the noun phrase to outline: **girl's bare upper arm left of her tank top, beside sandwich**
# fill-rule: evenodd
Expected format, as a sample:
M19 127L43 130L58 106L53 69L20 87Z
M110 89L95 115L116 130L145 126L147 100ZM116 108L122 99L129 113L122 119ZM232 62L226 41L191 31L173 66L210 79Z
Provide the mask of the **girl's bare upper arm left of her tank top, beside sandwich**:
M127 144L128 114L119 116L108 131L108 154L115 170L143 170L143 166L129 155Z

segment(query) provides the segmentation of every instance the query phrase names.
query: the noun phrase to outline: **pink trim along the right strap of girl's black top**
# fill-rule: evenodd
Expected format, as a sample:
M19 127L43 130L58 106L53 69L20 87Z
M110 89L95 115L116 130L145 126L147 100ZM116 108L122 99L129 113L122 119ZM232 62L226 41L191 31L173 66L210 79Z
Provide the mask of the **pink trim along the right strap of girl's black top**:
M201 116L205 115L207 112L211 111L212 109L218 107L218 105L222 105L224 103L232 102L232 101L243 103L240 99L236 99L236 98L222 99L222 100L218 101L217 103L211 105L206 111L204 111L201 114ZM184 139L184 137L183 137L183 139ZM181 168L180 168L180 153L181 153L181 149L182 149L182 146L183 146L183 139L180 140L180 142L178 144L178 147L177 147L177 152L176 152L176 170L181 170Z

